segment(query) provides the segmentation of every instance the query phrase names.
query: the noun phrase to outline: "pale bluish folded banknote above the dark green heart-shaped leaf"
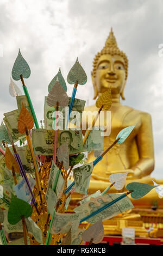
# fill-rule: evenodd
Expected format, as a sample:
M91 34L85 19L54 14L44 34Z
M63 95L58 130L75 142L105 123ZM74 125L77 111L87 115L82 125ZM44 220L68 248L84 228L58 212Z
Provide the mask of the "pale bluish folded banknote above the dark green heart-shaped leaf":
M31 189L33 190L36 181L28 173L27 173L27 178L28 178ZM16 192L17 198L20 198L26 201L27 203L29 203L32 200L32 194L30 193L29 187L24 177L14 187L14 190Z

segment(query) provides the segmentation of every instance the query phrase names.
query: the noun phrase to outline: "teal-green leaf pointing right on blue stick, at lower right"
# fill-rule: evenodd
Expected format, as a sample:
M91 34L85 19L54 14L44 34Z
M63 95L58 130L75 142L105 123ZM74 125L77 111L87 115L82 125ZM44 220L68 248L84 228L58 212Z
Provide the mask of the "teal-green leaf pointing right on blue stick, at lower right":
M129 191L133 190L133 192L131 192L131 197L135 199L145 196L154 187L156 186L152 186L152 185L148 185L140 182L131 182L126 186L127 190Z

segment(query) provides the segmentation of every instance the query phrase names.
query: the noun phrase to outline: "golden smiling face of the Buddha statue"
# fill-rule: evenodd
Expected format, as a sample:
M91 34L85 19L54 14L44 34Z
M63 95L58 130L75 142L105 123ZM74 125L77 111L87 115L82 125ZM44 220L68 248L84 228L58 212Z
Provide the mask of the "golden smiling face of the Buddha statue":
M103 54L98 59L96 77L93 84L98 94L104 93L111 86L112 94L120 94L126 83L124 60L121 56Z

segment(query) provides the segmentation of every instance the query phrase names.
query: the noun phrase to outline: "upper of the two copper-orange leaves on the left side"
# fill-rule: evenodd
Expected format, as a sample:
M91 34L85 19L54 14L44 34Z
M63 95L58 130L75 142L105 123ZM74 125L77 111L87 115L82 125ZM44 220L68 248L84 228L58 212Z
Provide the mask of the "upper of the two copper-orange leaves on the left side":
M18 117L18 131L23 134L26 132L26 128L27 130L30 130L33 128L33 126L34 126L33 117L22 103L21 112Z

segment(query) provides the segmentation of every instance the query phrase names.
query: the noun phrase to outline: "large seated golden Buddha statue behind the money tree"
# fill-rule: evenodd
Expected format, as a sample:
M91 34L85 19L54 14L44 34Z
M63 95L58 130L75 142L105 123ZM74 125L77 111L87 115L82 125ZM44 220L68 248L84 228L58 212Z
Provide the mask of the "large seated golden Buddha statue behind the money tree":
M158 184L163 184L162 180L152 179L149 176L154 169L154 148L151 115L135 110L132 107L124 106L120 102L120 97L124 100L124 88L128 76L128 59L125 53L120 51L112 32L105 42L105 46L101 52L97 53L93 61L92 82L94 88L94 98L100 96L111 86L112 105L111 112L111 133L104 137L104 150L115 141L118 132L127 126L136 124L130 136L122 144L116 144L103 157L103 159L93 168L91 181L89 186L89 194L94 193L98 189L102 191L109 186L109 176L113 173L128 172L127 182L143 182L153 185L154 180ZM93 105L86 107L83 113L83 121L86 127L91 125L92 120L86 119L87 111L98 111ZM106 112L106 111L105 111ZM105 126L106 118L100 118L100 126ZM95 124L97 126L97 123ZM92 153L88 155L88 162L95 160ZM113 187L110 193L118 192ZM120 191L122 192L122 191ZM162 204L161 199L152 190L147 196L139 200L133 200L134 205L151 206L153 200L158 200ZM142 203L143 202L143 203Z

